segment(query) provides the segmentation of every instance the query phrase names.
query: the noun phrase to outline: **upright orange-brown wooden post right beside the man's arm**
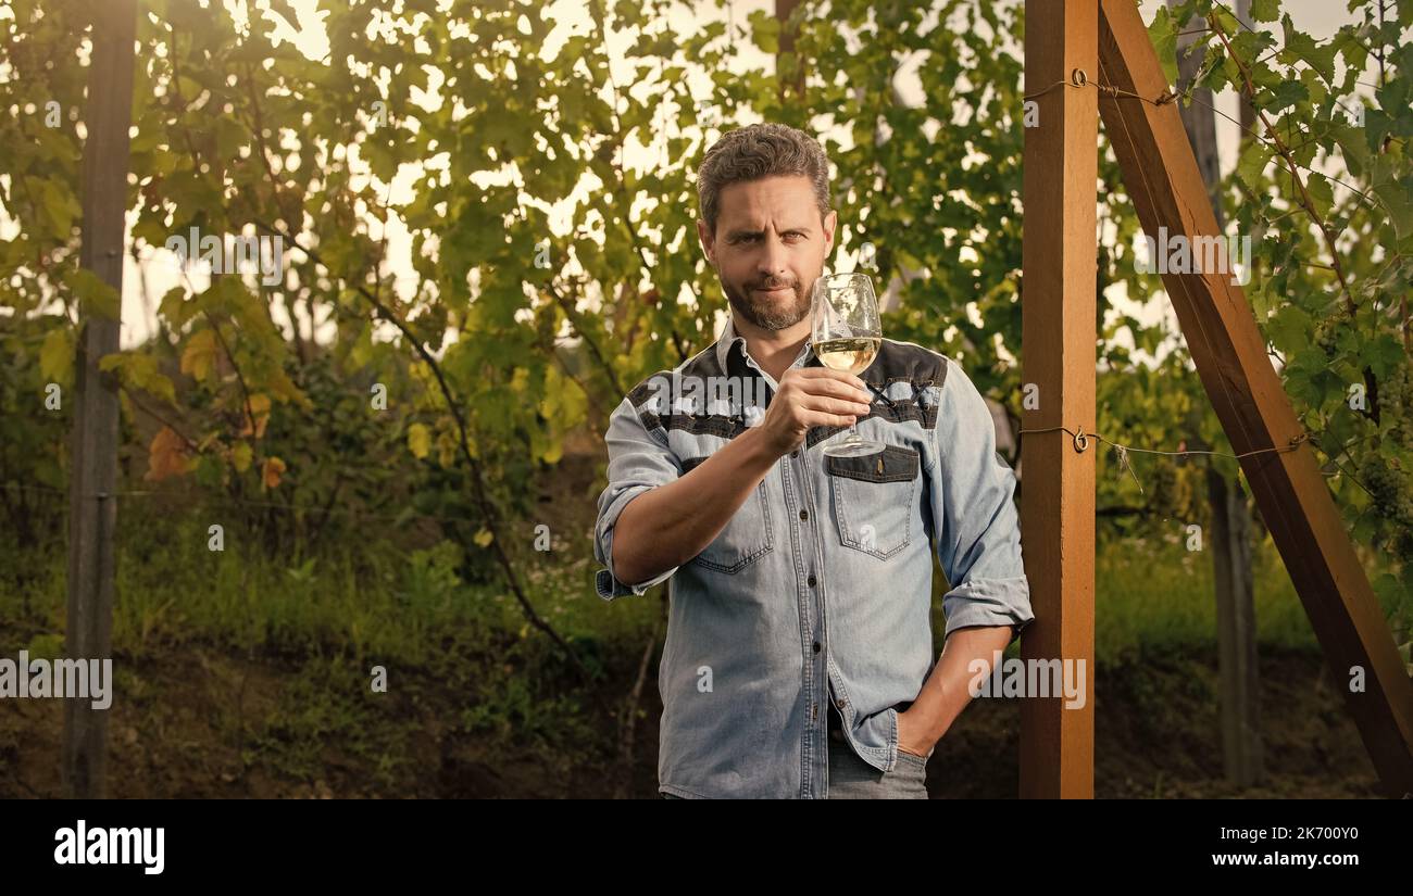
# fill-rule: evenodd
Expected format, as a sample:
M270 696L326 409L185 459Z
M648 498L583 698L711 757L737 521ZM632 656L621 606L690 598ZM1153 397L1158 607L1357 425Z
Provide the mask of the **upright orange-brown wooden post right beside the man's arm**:
M1054 86L1098 73L1098 0L1026 0L1023 382L1039 388L1027 429L1095 420L1098 93ZM1082 708L1020 704L1020 796L1094 796L1094 459L1061 430L1022 442L1020 528L1036 621L1024 659L1085 663Z

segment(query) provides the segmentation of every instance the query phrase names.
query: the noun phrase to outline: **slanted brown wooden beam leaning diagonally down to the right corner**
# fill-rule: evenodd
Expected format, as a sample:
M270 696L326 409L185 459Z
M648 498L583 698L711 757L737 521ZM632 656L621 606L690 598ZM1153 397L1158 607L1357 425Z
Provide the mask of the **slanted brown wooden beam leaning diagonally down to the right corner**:
M1133 0L1101 0L1099 13L1101 83L1156 100L1169 85ZM1161 226L1188 240L1219 236L1177 104L1105 96L1099 113L1143 229L1157 234ZM1402 797L1413 793L1413 682L1314 450L1297 442L1303 428L1246 295L1232 281L1212 271L1163 275L1232 447L1238 454L1263 450L1243 457L1242 470L1385 790ZM1355 680L1362 690L1351 690Z

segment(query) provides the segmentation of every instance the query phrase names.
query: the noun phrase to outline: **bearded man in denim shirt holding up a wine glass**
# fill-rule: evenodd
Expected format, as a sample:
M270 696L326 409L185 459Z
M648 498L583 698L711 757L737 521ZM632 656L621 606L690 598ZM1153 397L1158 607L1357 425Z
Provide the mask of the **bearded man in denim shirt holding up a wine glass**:
M615 409L595 526L603 598L673 579L660 792L926 799L968 665L989 670L1033 619L991 412L921 346L885 339L859 377L814 356L811 288L838 220L815 140L723 135L698 199L732 313ZM763 413L736 401L759 394ZM825 457L855 420L885 450ZM931 550L951 584L935 660Z

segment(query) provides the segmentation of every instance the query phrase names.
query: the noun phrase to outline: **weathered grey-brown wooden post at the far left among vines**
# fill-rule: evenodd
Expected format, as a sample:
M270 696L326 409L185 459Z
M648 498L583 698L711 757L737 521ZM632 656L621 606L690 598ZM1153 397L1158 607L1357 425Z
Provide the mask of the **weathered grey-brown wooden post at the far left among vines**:
M83 123L83 243L79 264L123 293L127 231L127 130L133 106L136 0L93 3L93 58ZM119 301L122 317L122 299ZM69 474L68 636L78 659L112 656L113 531L117 504L117 387L99 360L117 351L119 320L90 315L78 346L72 471ZM109 680L112 687L112 680ZM64 785L71 797L106 790L106 710L64 704Z

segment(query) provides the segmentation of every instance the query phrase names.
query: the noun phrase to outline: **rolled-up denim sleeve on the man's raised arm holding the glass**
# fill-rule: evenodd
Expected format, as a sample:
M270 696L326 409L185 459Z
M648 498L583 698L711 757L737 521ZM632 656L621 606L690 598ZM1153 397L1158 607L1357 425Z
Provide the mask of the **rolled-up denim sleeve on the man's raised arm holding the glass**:
M609 484L599 495L599 516L593 526L593 556L603 564L595 576L595 587L599 597L613 600L643 594L677 571L678 567L674 566L647 581L623 583L613 569L613 528L629 501L677 480L682 474L682 466L666 440L643 426L637 408L629 398L613 411L603 440L609 449Z

